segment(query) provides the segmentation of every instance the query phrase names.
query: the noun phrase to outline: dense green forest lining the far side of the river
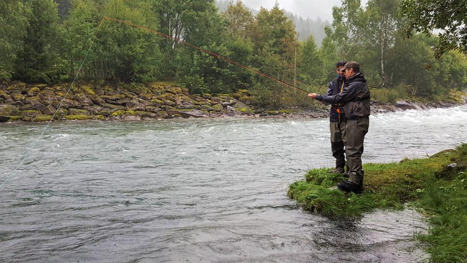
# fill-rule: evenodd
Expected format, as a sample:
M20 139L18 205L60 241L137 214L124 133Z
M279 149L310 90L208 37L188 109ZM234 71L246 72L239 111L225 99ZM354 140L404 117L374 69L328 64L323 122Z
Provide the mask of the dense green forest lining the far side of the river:
M215 0L7 0L0 2L0 81L71 81L87 55L103 16L123 19L180 38L307 91L323 92L339 60L358 61L381 102L407 95L436 96L464 90L467 58L446 51L427 32L407 38L398 0L343 0L324 26L299 39L289 14L276 4L253 14L241 1L219 12ZM296 20L296 19L295 19ZM192 93L248 89L271 107L305 105L260 75L155 34L104 21L78 75L80 81L139 85L171 81Z

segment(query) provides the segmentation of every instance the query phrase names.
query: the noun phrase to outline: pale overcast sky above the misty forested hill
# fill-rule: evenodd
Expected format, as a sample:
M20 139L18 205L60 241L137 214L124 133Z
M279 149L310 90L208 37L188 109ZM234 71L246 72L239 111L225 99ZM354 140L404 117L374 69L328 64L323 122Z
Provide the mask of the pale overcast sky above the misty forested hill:
M276 0L242 0L246 6L253 9L258 9L263 6L272 8ZM332 22L332 7L341 5L341 0L278 0L279 7L286 9L303 18L317 19ZM365 5L368 0L362 0L362 5ZM236 1L235 1L236 2Z

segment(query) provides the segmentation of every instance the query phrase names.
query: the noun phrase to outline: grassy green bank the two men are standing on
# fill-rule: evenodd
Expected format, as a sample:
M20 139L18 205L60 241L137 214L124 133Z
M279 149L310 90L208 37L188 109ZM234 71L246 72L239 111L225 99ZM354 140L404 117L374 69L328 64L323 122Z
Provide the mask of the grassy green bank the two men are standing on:
M455 165L451 165L455 164ZM328 169L311 169L305 181L290 185L288 196L304 209L326 216L358 216L375 208L402 209L410 203L428 217L431 228L419 238L431 246L433 262L467 259L467 144L429 158L365 164L365 192L329 189L342 180Z

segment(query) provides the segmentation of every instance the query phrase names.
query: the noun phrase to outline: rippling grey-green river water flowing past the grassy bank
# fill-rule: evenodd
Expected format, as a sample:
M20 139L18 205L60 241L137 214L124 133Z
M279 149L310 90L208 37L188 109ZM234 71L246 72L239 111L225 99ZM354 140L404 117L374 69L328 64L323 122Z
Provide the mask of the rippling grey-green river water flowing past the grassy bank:
M44 123L0 125L0 183ZM364 162L467 141L467 106L372 115ZM327 119L54 122L0 188L0 262L417 262L412 209L329 219L287 198L331 167Z

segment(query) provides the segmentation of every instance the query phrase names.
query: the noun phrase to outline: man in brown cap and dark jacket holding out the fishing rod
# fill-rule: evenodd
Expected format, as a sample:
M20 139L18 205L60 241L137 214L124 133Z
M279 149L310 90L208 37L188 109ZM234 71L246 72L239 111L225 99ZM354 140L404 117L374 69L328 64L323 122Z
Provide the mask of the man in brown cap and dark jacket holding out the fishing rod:
M357 62L348 62L341 69L345 72L347 82L340 94L324 96L308 94L310 98L330 104L343 104L345 118L345 155L350 170L348 181L339 183L337 187L343 191L360 193L363 191L363 170L361 169L361 155L363 153L363 141L368 132L370 116L370 90L366 85L366 79L360 73L360 65Z

